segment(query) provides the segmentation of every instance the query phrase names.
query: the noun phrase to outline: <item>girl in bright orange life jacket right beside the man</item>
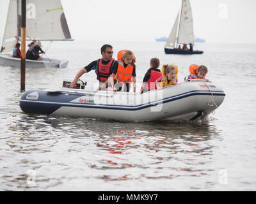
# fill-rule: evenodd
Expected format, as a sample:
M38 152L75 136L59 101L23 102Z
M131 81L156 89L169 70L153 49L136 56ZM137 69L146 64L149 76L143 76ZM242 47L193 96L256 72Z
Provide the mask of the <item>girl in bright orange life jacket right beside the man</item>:
M131 82L133 92L136 92L135 57L131 50L121 50L117 55L118 67L110 77L111 91L130 91Z

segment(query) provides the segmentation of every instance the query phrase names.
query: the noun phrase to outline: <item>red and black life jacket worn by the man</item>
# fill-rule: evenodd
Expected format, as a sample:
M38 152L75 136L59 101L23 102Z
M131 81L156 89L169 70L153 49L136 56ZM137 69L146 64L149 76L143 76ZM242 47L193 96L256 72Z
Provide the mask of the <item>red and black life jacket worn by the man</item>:
M102 64L102 59L97 61L97 66L95 68L95 73L97 74L97 79L100 82L106 82L110 75L111 67L113 66L113 61L115 59L112 58L108 64Z

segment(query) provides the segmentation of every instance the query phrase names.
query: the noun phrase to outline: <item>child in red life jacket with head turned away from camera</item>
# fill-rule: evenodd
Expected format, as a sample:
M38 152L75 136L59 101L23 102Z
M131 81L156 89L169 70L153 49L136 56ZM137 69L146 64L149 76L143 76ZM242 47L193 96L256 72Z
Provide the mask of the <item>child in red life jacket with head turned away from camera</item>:
M140 88L140 94L147 91L156 90L156 80L162 76L161 70L159 68L159 59L154 57L150 59L150 68L143 78L143 84Z

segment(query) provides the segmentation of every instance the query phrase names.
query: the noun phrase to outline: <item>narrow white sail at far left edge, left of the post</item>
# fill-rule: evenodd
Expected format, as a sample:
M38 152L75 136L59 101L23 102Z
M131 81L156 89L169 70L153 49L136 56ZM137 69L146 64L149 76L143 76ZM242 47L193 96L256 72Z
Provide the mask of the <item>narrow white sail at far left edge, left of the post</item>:
M4 1L7 2L6 0ZM10 0L8 8L9 9L4 28L3 43L1 46L3 47L4 52L13 50L15 44L17 43L17 1Z

